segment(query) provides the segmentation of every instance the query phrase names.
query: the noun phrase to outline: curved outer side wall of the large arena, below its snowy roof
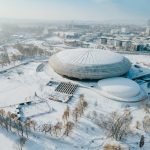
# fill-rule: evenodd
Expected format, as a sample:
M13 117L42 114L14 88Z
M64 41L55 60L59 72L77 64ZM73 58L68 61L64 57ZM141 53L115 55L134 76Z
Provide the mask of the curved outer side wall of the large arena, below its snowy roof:
M131 67L129 60L123 57L119 62L111 64L71 64L63 62L53 55L49 63L60 75L78 79L103 79L121 76L128 72Z

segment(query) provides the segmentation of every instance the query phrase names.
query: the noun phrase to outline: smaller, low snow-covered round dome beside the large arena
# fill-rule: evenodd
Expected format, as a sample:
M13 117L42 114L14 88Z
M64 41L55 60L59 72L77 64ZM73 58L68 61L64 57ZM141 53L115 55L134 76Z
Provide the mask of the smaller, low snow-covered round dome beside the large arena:
M117 101L136 102L147 98L146 92L127 78L115 77L98 82L100 94Z

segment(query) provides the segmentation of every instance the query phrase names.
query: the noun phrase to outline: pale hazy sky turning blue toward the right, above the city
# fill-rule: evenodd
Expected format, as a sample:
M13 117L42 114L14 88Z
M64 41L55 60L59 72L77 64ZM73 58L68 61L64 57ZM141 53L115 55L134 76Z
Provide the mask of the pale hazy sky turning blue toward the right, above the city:
M0 0L0 18L140 20L150 18L150 0Z

